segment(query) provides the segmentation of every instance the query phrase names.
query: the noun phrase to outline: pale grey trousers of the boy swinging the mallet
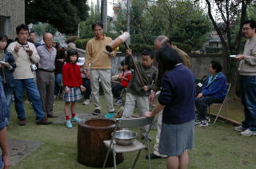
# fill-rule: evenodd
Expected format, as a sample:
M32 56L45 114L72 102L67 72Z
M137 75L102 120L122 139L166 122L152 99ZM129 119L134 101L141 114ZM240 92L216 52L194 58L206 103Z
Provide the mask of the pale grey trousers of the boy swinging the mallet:
M148 112L150 110L148 96L138 96L127 92L125 109L122 113L122 117L130 118L134 114L135 104L137 104L139 116L144 116L145 112ZM142 136L146 136L146 131L148 130L148 128L149 126L141 128Z

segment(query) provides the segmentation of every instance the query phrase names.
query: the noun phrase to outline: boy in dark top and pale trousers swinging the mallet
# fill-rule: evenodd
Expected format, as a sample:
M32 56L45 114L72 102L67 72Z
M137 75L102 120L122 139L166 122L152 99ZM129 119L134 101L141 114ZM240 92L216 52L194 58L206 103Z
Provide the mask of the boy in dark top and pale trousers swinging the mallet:
M130 63L130 68L137 65L138 72L135 70L133 77L131 78L127 93L126 103L122 117L131 117L134 114L135 105L138 108L139 116L144 116L145 112L150 110L150 104L148 96L150 96L150 90L152 89L152 82L158 77L158 69L154 67L154 51L145 49L142 52L142 61L136 61L133 64L131 61L131 50L127 50L126 60ZM141 128L142 139L145 138L147 127Z

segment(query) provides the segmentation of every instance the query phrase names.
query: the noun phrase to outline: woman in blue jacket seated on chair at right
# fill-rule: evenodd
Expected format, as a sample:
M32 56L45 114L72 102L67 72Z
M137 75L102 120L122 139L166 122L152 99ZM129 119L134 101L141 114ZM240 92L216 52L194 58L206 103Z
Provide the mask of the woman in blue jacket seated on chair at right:
M195 100L198 116L195 121L196 126L208 126L206 119L207 107L210 104L220 104L224 100L227 92L226 77L222 73L222 65L218 61L211 61L209 68L210 76L207 77L202 86L202 92Z

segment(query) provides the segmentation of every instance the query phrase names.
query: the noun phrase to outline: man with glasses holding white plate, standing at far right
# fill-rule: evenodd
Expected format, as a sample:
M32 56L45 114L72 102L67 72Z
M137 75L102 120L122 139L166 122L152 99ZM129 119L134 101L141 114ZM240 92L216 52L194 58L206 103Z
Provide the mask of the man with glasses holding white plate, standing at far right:
M242 104L244 105L245 120L234 129L242 136L256 135L256 22L246 21L242 33L248 39L243 54L235 57L239 63Z

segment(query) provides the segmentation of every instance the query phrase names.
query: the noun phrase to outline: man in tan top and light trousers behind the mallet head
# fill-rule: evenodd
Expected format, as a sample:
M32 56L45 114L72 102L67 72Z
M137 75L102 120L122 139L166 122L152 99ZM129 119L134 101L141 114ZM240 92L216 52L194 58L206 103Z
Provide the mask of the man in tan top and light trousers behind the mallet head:
M109 113L114 112L113 95L111 92L110 69L111 58L115 57L115 51L109 54L103 53L105 47L112 39L106 37L103 33L102 23L94 23L92 26L94 38L88 41L86 45L86 75L90 78L91 96L94 102L94 115L101 113L101 104L99 102L99 81L101 81L106 104Z

